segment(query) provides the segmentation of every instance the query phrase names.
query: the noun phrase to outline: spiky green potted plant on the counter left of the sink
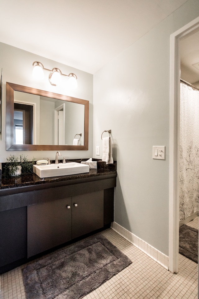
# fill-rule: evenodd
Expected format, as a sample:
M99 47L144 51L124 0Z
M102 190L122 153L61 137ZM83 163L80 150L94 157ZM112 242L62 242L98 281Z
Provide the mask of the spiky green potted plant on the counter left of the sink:
M10 155L4 167L4 175L5 177L17 177L21 174L31 174L33 173L33 164L35 164L35 158L28 160L26 156L20 155L19 159L15 155Z

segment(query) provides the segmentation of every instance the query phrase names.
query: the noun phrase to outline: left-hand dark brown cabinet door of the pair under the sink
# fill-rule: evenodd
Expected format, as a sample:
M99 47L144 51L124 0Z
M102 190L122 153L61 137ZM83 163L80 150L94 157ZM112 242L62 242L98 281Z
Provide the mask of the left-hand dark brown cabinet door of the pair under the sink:
M27 208L28 257L71 240L71 197Z

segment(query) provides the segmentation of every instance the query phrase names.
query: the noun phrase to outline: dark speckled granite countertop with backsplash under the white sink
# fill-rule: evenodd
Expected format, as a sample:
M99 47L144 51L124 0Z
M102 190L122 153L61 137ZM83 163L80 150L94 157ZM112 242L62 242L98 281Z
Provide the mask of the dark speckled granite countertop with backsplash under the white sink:
M86 161L86 160L88 159L70 159L67 161L81 163L81 161ZM110 175L110 174L117 175L116 161L113 161L113 164L106 164L105 162L99 159L93 159L93 161L97 161L97 169L90 168L89 173L72 174L72 175L51 177L51 178L39 178L35 173L30 175L21 175L15 178L11 178L11 177L4 178L3 165L5 163L2 163L2 167L0 163L0 189L25 187L25 186L39 185L39 184L52 183L52 182L82 179L82 178L92 178L92 177L98 177L98 176Z

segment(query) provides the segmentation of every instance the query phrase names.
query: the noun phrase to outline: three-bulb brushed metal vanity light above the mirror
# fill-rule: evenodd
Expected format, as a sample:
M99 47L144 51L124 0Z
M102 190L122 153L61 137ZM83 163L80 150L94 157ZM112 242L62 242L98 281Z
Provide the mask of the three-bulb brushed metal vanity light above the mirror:
M39 61L34 61L34 66L32 75L33 78L42 80L44 78L44 70L49 71L49 82L53 86L57 86L60 82L61 75L69 77L68 85L72 88L77 88L77 76L74 73L70 73L68 75L62 74L61 70L58 68L53 68L52 70L44 68L44 65Z

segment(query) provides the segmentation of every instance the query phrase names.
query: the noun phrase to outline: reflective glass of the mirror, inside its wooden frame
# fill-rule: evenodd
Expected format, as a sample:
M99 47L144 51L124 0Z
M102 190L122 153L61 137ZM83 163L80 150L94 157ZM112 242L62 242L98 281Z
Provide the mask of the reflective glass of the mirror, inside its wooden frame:
M84 105L14 91L13 130L14 144L84 145Z

